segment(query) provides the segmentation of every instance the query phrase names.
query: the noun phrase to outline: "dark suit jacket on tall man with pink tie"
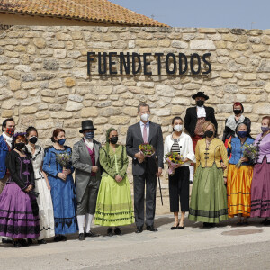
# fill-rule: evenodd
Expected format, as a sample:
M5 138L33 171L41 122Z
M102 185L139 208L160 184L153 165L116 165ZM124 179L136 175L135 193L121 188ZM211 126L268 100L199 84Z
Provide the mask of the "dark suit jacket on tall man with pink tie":
M127 132L126 148L127 153L132 157L132 173L133 175L143 175L146 170L150 174L157 173L157 166L163 168L163 136L160 125L157 123L149 123L149 138L148 144L155 149L155 154L152 157L146 157L146 161L139 163L135 154L139 152L139 145L143 143L142 134L139 122L130 126Z

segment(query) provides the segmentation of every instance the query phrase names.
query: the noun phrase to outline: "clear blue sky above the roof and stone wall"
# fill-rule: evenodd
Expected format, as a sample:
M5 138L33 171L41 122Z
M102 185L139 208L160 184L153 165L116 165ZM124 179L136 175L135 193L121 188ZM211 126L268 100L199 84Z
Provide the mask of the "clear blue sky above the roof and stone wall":
M270 0L110 0L173 27L270 29Z

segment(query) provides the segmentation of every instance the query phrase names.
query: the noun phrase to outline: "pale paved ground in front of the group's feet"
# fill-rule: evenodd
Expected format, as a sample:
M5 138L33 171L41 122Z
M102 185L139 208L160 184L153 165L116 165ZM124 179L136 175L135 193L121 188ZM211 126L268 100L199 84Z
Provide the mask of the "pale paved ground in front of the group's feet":
M1 269L270 269L270 227L259 221L237 227L229 220L202 229L186 220L185 229L172 231L173 218L166 214L157 216L155 233L135 234L132 225L122 229L121 237L80 242L72 236L67 242L19 249L0 244Z

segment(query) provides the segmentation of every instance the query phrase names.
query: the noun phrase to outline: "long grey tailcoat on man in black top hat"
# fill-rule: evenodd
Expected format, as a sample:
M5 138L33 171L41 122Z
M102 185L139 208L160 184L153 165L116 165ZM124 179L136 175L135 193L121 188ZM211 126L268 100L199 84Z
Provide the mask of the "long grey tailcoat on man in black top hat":
M97 188L101 180L101 167L99 164L99 149L101 144L94 140L94 152L95 152L95 166L98 166L98 172L94 178ZM81 202L85 189L91 180L92 161L89 155L88 149L85 145L84 139L76 142L72 150L72 165L75 170L75 184L76 184L76 201Z

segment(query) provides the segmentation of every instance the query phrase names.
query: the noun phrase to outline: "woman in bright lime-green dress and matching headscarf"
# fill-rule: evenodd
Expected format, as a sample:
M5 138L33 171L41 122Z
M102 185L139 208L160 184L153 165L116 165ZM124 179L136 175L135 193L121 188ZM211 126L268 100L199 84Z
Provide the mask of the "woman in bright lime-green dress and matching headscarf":
M100 149L100 165L103 175L99 187L94 224L108 226L107 235L121 235L119 226L134 223L130 182L127 177L129 159L126 148L117 144L118 132L111 128L106 132L106 145Z

